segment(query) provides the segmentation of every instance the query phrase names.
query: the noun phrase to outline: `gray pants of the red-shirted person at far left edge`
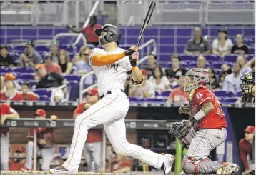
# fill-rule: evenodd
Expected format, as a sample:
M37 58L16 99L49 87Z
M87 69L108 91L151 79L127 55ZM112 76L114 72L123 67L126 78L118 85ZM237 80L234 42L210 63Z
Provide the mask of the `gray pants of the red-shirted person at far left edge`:
M1 170L9 170L9 133L1 136Z

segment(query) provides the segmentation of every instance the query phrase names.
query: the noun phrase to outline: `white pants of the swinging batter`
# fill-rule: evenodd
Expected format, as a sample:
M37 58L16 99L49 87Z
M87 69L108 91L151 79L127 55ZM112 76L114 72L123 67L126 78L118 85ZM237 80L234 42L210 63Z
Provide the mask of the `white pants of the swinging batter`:
M129 99L120 89L114 89L111 92L112 94L104 93L103 99L99 100L75 119L70 154L63 166L69 171L78 171L88 129L104 124L107 137L117 154L132 156L158 169L161 168L165 159L163 155L128 143L124 117L129 109Z

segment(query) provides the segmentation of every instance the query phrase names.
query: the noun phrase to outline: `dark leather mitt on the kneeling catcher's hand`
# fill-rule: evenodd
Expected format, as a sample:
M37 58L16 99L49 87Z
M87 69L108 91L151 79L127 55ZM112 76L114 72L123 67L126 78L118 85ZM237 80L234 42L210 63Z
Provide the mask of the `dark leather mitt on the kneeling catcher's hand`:
M169 129L169 134L181 139L184 136L187 136L191 127L192 127L192 123L189 120L174 123L172 124L171 129Z

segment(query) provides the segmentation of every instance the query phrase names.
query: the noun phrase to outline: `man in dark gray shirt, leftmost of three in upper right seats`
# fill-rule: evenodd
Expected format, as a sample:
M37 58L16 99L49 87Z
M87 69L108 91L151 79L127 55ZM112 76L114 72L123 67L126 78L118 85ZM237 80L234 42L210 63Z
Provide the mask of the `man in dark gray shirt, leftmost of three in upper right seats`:
M211 46L209 41L202 38L202 31L199 27L194 29L194 39L189 39L184 49L185 54L210 54Z

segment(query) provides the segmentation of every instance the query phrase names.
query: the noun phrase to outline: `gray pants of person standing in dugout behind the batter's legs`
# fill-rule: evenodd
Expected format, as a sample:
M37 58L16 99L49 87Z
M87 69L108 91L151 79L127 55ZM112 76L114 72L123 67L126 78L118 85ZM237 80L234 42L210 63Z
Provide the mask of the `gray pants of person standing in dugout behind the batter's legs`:
M84 156L89 167L89 171L102 170L102 141L84 144ZM94 161L95 169L92 169L92 161Z

